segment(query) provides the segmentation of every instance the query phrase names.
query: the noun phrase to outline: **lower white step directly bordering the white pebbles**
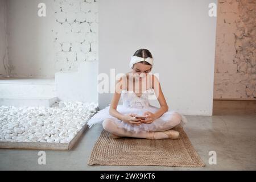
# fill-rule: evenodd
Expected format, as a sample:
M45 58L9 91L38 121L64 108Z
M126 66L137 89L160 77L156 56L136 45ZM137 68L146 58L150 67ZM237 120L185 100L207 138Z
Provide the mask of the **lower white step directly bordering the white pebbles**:
M24 97L24 96L16 96L16 97L1 97L0 98L0 106L15 106L15 107L23 107L23 106L45 106L51 107L58 101L57 97Z

